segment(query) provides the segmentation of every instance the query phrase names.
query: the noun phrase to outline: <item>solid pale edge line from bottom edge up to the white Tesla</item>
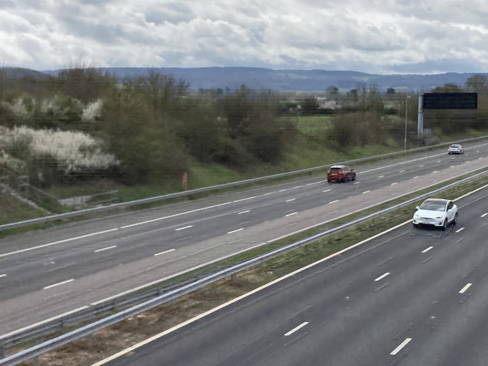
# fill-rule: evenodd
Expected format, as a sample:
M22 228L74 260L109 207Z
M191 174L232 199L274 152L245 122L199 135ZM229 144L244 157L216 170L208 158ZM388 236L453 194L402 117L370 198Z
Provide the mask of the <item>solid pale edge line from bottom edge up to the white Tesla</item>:
M208 316L208 315L210 315L210 314L212 314L212 313L214 313L216 311L219 311L220 309L223 309L224 307L227 307L229 305L232 305L234 303L237 303L238 301L241 301L242 299L245 299L246 297L249 297L249 296L251 296L251 295L253 295L253 294L255 294L255 293L259 292L259 291L262 291L262 290L264 290L265 288L267 288L269 286L272 286L272 285L275 285L275 284L277 284L277 283L279 283L281 281L284 281L285 279L287 279L289 277L292 277L292 276L296 275L297 273L303 272L303 271L305 271L305 270L307 270L307 269L309 269L309 268L311 268L311 267L313 267L313 266L315 266L317 264L321 264L321 263L329 260L330 258L337 257L337 256L345 253L348 250L351 250L351 249L353 249L353 248L355 248L355 247L357 247L359 245L365 244L365 243L367 243L367 242L369 242L369 241L371 241L373 239L378 238L381 235L384 235L386 233L389 233L390 231L393 231L395 229L398 229L399 227L402 227L402 226L404 226L406 224L410 224L410 223L411 223L411 220L408 220L408 221L406 221L406 222L404 222L402 224L398 224L396 226L390 227L389 229L386 229L385 231L383 231L381 233L375 234L375 235L373 235L373 236L371 236L371 237L369 237L369 238L367 238L367 239L365 239L365 240L363 240L363 241L361 241L359 243L356 243L356 244L353 244L351 246L348 246L347 248L341 249L338 252L333 253L333 254L331 254L331 255L329 255L329 256L327 256L325 258L322 258L322 259L320 259L320 260L318 260L316 262L313 262L311 264L307 264L307 265L305 265L302 268L299 268L299 269L297 269L297 270L295 270L293 272L290 272L290 273L288 273L288 274L286 274L286 275L284 275L284 276L282 276L280 278L277 278L276 280L273 280L271 282L268 282L267 284L264 284L264 285L262 285L262 286L260 286L258 288L255 288L254 290L251 290L249 292L246 292L245 294L240 295L240 296L238 296L238 297L236 297L236 298L234 298L232 300L229 300L229 301L227 301L224 304L218 305L218 306L214 307L213 309L207 310L207 311L203 312L200 315L197 315L197 316L195 316L195 317L193 317L191 319L188 319L188 320L184 321L183 323L180 323L180 324L175 325L175 326L173 326L173 327L171 327L169 329L166 329L163 332L161 332L159 334L156 334L156 335L154 335L152 337L149 337L149 338L145 339L144 341L139 342L139 343L137 343L134 346L129 347L129 348L130 348L130 350L134 350L136 348L139 348L139 347L142 347L144 345L147 345L148 343L151 343L151 342L153 342L153 341L155 341L155 340L157 340L157 339L165 336L166 334L172 333L172 332L174 332L174 331L176 331L176 330L178 330L178 329L180 329L180 328L182 328L182 327L184 327L184 326L186 326L188 324L192 324L192 323L194 323L194 322L196 322L196 321L198 321L198 320L200 320L200 319L202 319L202 318L204 318L204 317L206 317L206 316ZM129 349L129 348L127 348L127 349ZM117 353L119 355L117 357L120 357L123 354L127 353L127 352L123 352L123 353L122 352L123 351ZM114 360L115 358L117 358L117 357L114 357L114 356L115 355L110 356L110 357L108 357L108 358L106 358L106 359L104 359L102 361L99 361L96 364L93 364L91 366L101 366L101 365L104 365L107 362L110 362L110 361Z

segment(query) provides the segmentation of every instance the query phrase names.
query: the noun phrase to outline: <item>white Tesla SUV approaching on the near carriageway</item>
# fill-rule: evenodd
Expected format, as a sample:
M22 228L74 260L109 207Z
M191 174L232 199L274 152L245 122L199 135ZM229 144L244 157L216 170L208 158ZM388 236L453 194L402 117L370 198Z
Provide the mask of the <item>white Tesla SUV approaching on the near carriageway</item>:
M434 225L446 230L450 223L457 222L457 206L449 200L429 198L413 214L413 226L419 224Z

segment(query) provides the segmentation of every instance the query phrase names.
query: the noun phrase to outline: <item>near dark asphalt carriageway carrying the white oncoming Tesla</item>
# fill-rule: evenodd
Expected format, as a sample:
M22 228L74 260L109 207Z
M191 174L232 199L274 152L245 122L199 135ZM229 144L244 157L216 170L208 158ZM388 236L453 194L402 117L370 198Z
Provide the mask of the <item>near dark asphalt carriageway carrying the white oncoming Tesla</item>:
M443 237L405 224L103 364L485 366L487 195Z

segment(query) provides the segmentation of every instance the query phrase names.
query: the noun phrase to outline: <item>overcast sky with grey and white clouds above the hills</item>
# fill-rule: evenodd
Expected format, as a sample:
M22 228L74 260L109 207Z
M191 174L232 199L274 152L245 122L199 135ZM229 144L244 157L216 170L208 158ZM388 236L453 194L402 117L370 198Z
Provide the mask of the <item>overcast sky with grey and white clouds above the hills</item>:
M0 66L488 72L487 0L0 0Z

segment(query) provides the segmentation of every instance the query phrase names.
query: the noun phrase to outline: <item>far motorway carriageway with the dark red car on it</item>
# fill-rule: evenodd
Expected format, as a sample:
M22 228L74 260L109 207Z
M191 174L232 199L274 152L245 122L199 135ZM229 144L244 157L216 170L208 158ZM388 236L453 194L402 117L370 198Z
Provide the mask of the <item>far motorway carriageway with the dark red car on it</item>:
M466 147L466 161L488 155L486 143ZM160 279L175 263L170 273L186 269L187 264L180 262L192 255L202 263L209 247L199 249L199 245L212 238L228 236L219 245L227 253L235 252L237 245L242 249L255 244L246 239L246 230L311 209L324 211L325 204L366 197L365 192L413 178L420 181L448 166L442 149L355 167L357 184L328 185L324 176L301 178L4 238L0 241L0 334ZM241 235L242 243L235 244L233 235ZM132 276L136 271L139 276Z

